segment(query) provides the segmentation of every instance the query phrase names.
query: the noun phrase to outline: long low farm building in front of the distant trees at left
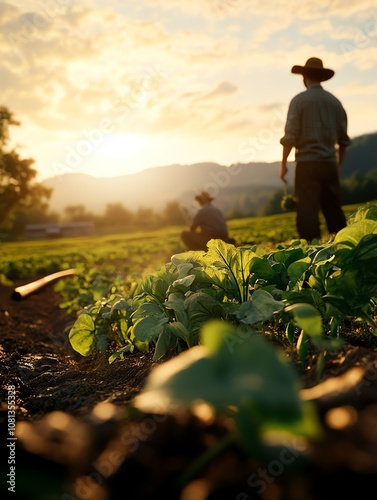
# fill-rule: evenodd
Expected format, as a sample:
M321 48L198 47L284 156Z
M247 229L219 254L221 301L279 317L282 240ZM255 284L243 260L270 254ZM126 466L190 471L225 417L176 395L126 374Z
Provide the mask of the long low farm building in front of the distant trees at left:
M31 240L87 236L94 234L94 224L92 221L27 224L25 231L27 238Z

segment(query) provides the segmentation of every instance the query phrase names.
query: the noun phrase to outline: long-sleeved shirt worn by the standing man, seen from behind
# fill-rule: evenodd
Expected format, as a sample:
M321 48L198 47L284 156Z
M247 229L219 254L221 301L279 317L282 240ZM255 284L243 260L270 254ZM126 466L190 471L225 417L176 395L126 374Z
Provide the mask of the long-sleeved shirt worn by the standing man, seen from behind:
M280 144L296 148L296 161L336 161L335 145L350 142L341 102L319 83L292 99Z

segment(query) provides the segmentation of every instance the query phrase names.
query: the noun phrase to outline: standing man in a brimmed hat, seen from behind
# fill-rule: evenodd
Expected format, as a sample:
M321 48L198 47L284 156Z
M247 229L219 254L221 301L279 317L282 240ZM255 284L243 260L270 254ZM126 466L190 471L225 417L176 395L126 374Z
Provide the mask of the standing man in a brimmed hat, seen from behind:
M299 237L319 239L319 211L322 210L329 233L346 226L340 202L339 170L346 148L347 115L341 102L321 86L334 76L321 59L311 57L305 66L293 66L292 73L303 76L306 91L290 102L284 137L280 178L286 181L287 160L295 148L296 225ZM336 149L336 145L338 148Z

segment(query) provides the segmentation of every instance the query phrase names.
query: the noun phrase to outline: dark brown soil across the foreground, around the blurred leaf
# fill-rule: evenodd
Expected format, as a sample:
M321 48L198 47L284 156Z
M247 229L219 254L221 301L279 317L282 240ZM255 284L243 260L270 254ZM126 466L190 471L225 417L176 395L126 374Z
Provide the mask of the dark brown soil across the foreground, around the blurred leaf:
M351 336L329 353L320 395L311 389L314 368L301 373L302 394L315 401L323 425L318 442L271 447L268 460L231 443L193 469L228 435L227 419L135 412L130 403L156 365L151 354L133 353L111 365L107 354L83 358L67 340L75 318L59 308L52 285L21 301L12 291L0 288L1 446L8 457L0 467L1 498L375 498L375 342ZM7 406L12 386L15 441L9 440Z

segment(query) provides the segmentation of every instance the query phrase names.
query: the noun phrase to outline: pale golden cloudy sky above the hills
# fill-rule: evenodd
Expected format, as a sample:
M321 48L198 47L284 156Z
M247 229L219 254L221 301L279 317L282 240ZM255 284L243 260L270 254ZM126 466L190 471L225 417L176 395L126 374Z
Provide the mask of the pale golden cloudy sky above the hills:
M279 161L313 56L350 137L377 131L374 0L7 0L0 51L9 147L38 180Z

